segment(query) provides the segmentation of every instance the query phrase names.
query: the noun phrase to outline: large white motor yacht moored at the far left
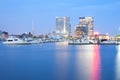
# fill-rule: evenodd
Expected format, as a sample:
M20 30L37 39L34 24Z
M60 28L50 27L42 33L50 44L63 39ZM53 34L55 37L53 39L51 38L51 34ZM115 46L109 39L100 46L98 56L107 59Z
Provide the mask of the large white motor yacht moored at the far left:
M16 38L16 37L9 37L7 38L3 44L7 44L7 45L23 45L23 44L30 44L27 41L24 41L22 39Z

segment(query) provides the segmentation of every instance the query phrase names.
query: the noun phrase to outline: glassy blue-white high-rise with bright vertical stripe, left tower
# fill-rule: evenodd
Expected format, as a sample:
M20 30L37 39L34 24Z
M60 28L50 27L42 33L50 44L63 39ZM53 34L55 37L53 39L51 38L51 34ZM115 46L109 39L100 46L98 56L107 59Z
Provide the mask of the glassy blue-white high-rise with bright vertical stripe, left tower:
M71 24L69 17L56 17L56 33L70 35Z

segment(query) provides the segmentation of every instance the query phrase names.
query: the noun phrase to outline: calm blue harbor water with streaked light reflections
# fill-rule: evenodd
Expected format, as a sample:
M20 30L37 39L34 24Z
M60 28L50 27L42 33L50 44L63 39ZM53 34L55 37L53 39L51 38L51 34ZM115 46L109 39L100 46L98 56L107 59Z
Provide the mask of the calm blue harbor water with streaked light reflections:
M120 80L120 45L3 45L0 80Z

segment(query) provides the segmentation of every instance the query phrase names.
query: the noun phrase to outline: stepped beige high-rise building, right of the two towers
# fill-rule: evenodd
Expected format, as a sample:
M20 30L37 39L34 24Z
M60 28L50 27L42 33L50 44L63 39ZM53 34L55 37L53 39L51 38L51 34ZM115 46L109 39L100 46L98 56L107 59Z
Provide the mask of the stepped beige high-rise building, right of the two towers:
M94 18L93 17L79 17L79 24L76 25L75 34L79 35L93 35Z

